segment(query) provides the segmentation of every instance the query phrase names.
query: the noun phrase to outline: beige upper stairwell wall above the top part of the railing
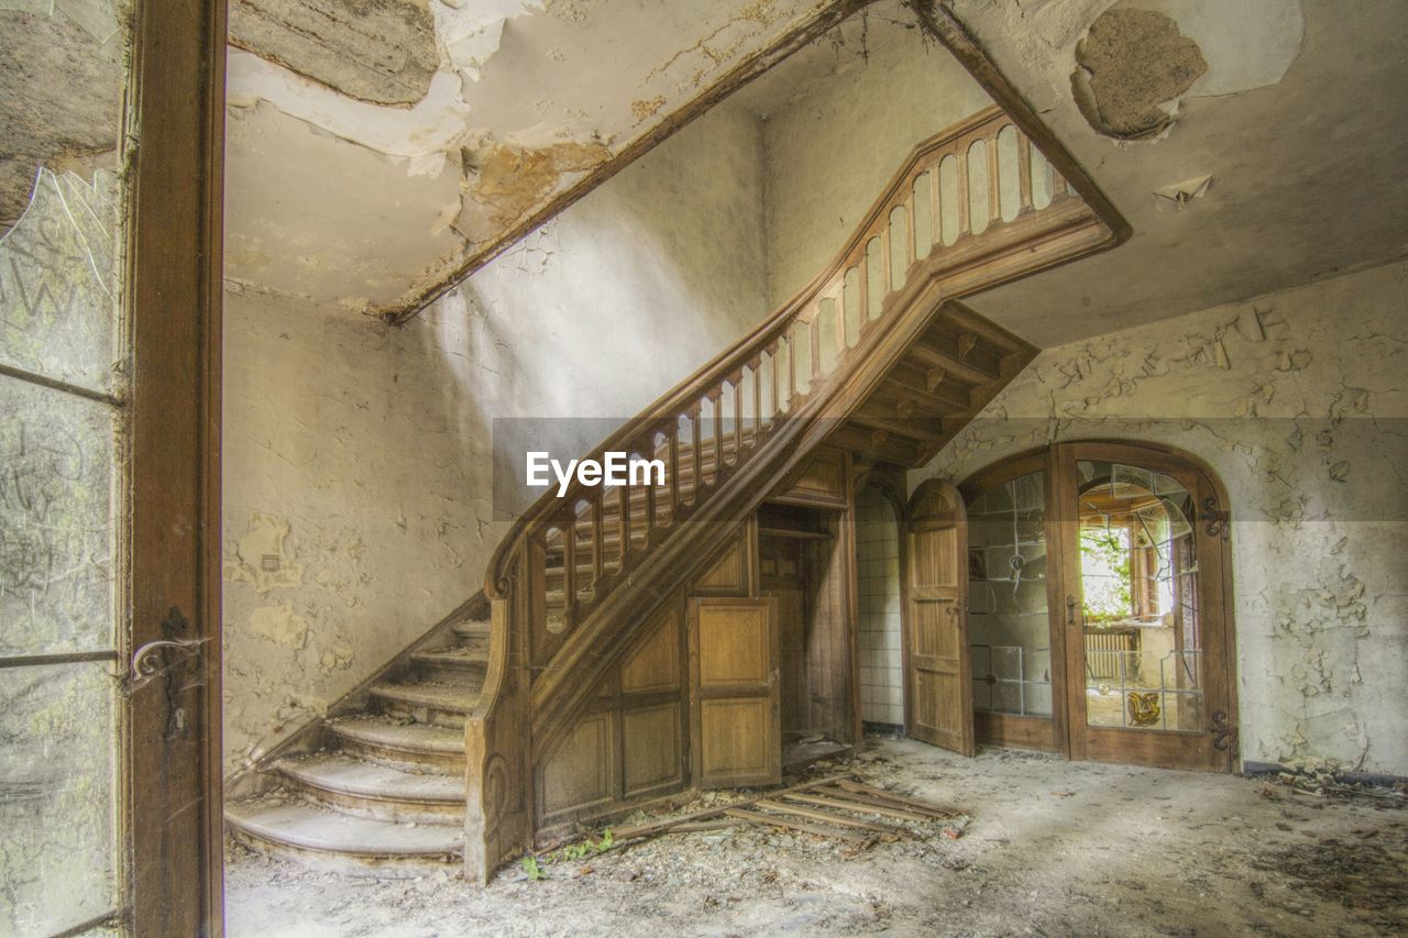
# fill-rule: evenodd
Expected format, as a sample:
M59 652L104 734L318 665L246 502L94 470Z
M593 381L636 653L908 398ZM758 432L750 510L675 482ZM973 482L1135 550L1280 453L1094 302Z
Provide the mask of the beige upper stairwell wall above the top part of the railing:
M838 70L767 115L767 296L777 308L832 261L922 139L991 104L963 66L888 4L848 24Z

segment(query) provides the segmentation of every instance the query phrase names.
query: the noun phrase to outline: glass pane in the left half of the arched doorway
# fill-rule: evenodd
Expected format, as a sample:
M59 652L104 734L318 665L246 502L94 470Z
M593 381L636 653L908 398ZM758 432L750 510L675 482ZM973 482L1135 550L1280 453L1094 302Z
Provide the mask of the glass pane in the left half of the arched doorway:
M967 513L973 707L1050 718L1046 476L994 486Z

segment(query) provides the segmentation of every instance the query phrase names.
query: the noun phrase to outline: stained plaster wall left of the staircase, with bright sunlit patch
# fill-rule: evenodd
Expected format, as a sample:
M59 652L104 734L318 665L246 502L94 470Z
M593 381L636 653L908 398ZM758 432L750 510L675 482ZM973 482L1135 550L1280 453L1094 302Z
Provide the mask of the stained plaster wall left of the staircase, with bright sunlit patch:
M480 589L496 417L624 418L763 317L762 192L725 106L406 327L230 284L227 770Z

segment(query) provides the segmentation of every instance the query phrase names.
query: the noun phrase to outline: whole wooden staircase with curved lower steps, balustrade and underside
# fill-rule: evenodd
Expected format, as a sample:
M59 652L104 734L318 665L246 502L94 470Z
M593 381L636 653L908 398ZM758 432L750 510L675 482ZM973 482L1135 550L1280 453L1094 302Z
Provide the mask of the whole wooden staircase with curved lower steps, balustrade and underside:
M422 639L262 763L259 794L228 804L234 835L342 868L462 859L486 882L545 818L686 790L687 769L631 789L622 742L689 755L681 584L819 452L922 465L1031 361L955 300L1128 235L1063 168L997 107L918 145L811 284L587 454L658 458L663 482L543 494L490 559L489 620ZM642 661L669 679L638 668L629 692Z

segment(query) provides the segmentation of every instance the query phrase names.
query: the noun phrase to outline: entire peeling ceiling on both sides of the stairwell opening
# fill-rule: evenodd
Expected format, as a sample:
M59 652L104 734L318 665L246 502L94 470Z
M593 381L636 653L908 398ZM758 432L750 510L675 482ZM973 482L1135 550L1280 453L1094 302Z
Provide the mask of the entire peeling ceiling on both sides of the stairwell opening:
M691 103L712 103L731 69L774 48L756 62L770 65L859 6L359 1L406 24L369 68L397 70L387 89L407 100L362 100L363 76L335 61L308 59L300 73L282 63L294 52L273 49L273 38L268 48L237 38L255 51L230 58L227 275L365 313L413 308L573 186L638 155ZM237 0L256 3L269 30L296 21L290 0ZM297 3L297 15L342 8ZM1115 251L976 299L1032 342L1236 301L1408 251L1401 1L946 8L1133 227ZM414 28L427 11L438 55L428 80L415 51L424 31ZM328 18L320 55L353 56L365 31ZM297 30L284 32L279 42L293 42ZM788 87L825 80L828 61L821 39L770 76L766 94L755 85L738 100L766 114Z

